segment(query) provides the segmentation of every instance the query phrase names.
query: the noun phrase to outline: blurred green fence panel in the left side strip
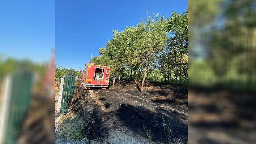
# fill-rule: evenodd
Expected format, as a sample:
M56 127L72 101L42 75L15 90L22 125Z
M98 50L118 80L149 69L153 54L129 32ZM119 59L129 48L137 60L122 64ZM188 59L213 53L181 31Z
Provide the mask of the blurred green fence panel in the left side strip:
M5 144L16 143L21 123L30 104L32 87L31 72L19 71L13 75Z

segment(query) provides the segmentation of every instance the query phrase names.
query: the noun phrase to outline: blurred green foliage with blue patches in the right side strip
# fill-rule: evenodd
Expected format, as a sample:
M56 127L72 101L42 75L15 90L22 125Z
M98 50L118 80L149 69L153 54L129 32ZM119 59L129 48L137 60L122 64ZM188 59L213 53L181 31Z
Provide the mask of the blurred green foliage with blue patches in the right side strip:
M189 3L189 87L254 91L256 1Z

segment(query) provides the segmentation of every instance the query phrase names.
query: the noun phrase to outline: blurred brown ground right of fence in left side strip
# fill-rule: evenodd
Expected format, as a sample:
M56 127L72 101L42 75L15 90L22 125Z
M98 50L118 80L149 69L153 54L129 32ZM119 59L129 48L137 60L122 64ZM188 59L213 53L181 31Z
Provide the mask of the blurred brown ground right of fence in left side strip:
M53 105L44 95L32 97L17 144L54 144Z

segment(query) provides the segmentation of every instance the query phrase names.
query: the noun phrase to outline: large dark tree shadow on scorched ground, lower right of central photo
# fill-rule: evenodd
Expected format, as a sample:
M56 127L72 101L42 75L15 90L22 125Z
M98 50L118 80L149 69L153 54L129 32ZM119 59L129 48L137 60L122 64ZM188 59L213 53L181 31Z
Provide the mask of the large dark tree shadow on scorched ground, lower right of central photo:
M141 135L147 138L145 126L150 128L150 134L152 134L153 141L162 143L170 143L168 138L178 138L187 142L188 126L184 123L180 123L176 117L171 118L169 115L162 115L161 112L155 113L143 108L142 106L132 106L129 104L121 104L116 115L123 122L124 126L127 126L133 131L134 135ZM172 133L169 134L168 128L172 129ZM149 131L149 129L148 129Z

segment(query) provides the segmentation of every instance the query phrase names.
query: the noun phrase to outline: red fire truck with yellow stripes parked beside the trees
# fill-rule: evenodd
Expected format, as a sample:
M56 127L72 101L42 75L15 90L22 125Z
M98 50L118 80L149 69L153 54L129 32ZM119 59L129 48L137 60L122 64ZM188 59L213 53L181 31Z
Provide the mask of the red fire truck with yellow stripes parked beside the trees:
M100 87L106 89L109 83L110 67L94 65L93 62L85 64L81 77L81 85L85 90L90 87Z

